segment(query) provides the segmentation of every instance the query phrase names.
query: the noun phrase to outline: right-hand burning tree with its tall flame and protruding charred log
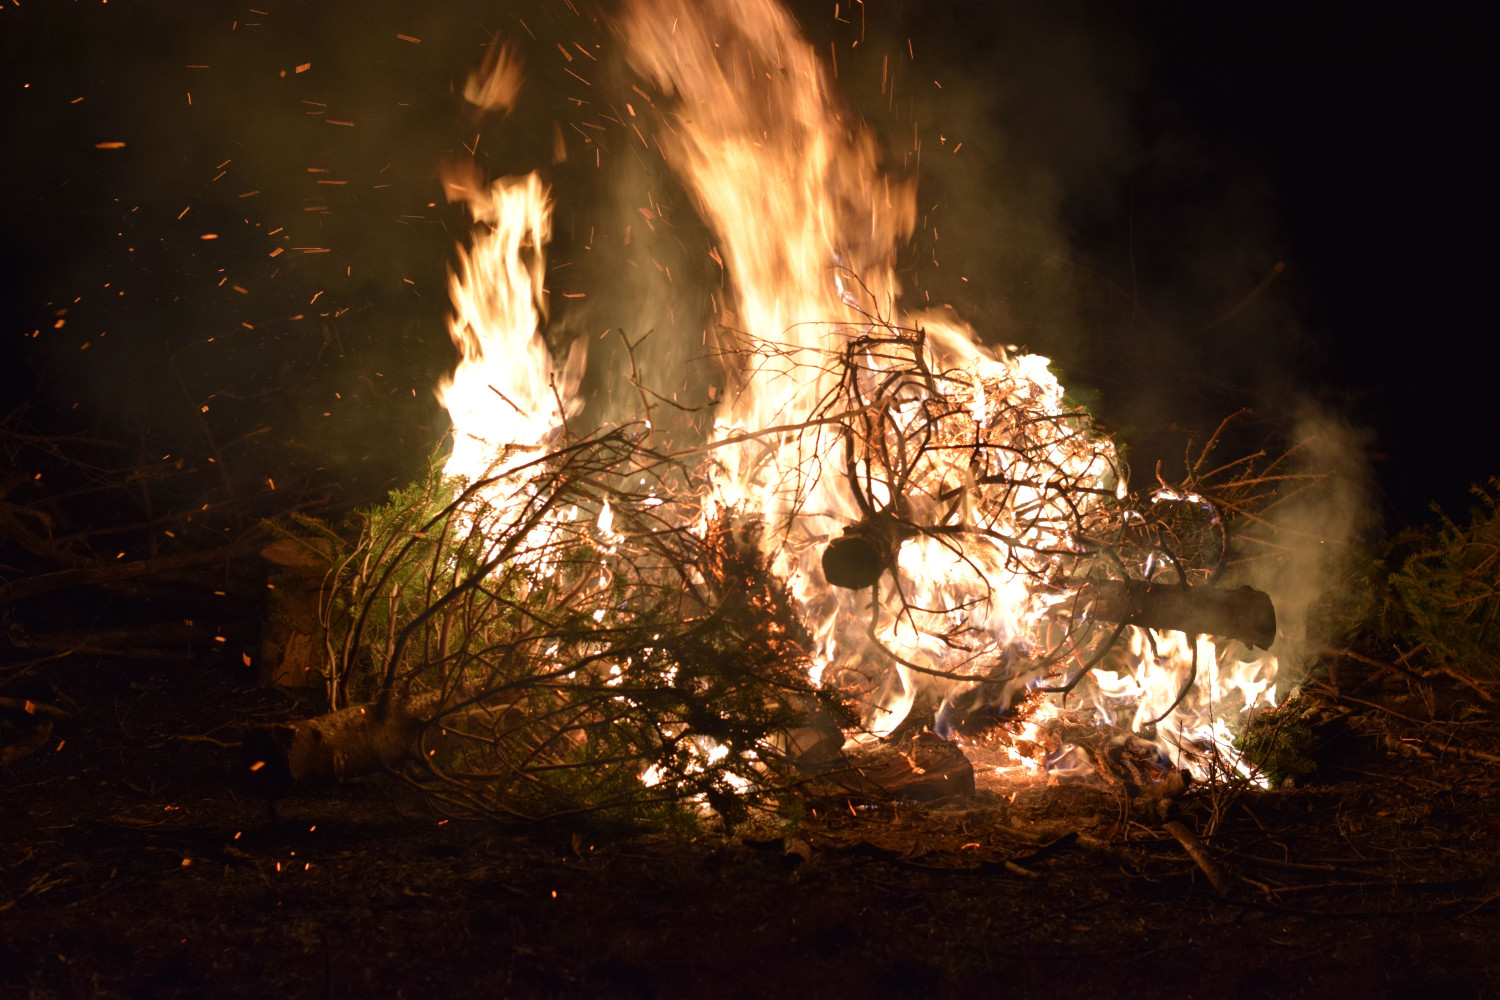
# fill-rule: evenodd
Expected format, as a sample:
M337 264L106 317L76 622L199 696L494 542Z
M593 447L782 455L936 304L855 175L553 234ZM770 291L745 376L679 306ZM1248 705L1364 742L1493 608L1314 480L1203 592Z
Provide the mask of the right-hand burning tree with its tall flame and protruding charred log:
M951 313L903 312L894 259L914 184L882 168L782 7L632 3L622 34L662 91L654 138L720 237L732 292L708 478L765 519L818 679L858 693L874 736L920 696L982 688L1004 714L1088 679L1101 718L1160 724L1178 760L1227 751L1218 706L1234 688L1242 705L1266 694L1275 660L1197 636L1269 645L1270 609L1185 588L1220 582L1224 516L1268 499L1254 459L1214 469L1204 450L1194 483L1128 502L1113 444L1046 358L987 349ZM1197 489L1215 478L1236 480L1218 505ZM1102 637L1101 621L1114 622ZM1118 646L1130 654L1100 682Z

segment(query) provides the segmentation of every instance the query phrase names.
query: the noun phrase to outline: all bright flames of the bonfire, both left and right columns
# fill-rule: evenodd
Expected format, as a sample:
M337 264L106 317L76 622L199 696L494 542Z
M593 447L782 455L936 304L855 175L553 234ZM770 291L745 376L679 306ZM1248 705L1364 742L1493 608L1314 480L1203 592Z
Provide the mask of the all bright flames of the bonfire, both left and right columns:
M1125 492L1113 444L1065 403L1047 358L900 309L894 261L915 184L882 169L783 7L627 0L621 31L634 69L668 96L658 139L728 276L729 385L704 517L716 502L764 522L770 567L816 639L816 679L862 699L867 730L888 735L922 690L1010 706L1050 664L1082 666L1053 631L1059 609L1083 600L1080 525ZM506 109L519 69L508 49L488 64L492 79L470 90ZM504 484L578 409L584 355L558 364L542 336L542 180L486 184L466 165L446 186L476 220L450 282L460 361L438 390L454 427L446 471ZM604 534L610 516L598 514ZM828 579L840 541L880 558L860 589ZM1044 648L1056 655L1028 669ZM1227 750L1226 705L1275 696L1274 657L1240 660L1238 645L1208 637L1132 628L1112 664L1092 670L1098 711L1120 726L1160 721L1168 747ZM994 678L1004 690L987 693ZM1038 708L1030 724L1056 711Z

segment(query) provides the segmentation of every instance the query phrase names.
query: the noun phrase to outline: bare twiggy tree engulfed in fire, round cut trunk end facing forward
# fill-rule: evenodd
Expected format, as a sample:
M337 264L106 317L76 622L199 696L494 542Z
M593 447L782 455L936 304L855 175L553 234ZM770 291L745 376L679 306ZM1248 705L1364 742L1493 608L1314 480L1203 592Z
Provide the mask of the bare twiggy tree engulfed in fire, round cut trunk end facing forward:
M816 553L832 588L804 586L804 606L837 603L840 616L867 621L834 643L866 646L908 691L936 690L940 724L972 729L969 712L988 724L1014 717L1028 690L1072 691L1124 639L1155 649L1149 630L1274 642L1263 592L1216 586L1230 550L1221 511L1254 513L1280 480L1258 469L1263 456L1204 472L1221 427L1190 456L1185 484L1161 483L1142 502L1125 492L1113 441L1062 403L1036 358L992 360L952 331L864 315L804 378L828 384L808 420L774 427L738 466L760 496L794 498L772 519L782 565L807 574ZM850 591L868 597L840 597ZM1144 717L1152 724L1188 697L1190 649L1186 678ZM834 684L873 690L858 676L872 666L846 657Z

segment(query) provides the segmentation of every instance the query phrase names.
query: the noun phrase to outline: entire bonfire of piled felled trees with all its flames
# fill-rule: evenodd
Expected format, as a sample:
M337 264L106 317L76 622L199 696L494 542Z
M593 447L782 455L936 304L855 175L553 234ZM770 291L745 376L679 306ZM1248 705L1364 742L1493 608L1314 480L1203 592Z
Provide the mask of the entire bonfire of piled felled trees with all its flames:
M548 190L450 172L476 219L440 390L453 453L333 559L336 711L252 744L266 777L410 759L460 813L728 808L903 726L1002 772L1090 739L1125 747L1086 756L1104 777L1130 757L1137 786L1233 766L1226 709L1274 700L1252 648L1276 627L1264 594L1222 586L1230 520L1284 474L1214 468L1215 436L1188 481L1134 498L1046 358L902 312L914 186L770 0L630 3L621 34L722 238L716 424L658 445L638 384L648 412L578 433L582 346L542 334ZM519 70L494 52L470 90L507 106Z

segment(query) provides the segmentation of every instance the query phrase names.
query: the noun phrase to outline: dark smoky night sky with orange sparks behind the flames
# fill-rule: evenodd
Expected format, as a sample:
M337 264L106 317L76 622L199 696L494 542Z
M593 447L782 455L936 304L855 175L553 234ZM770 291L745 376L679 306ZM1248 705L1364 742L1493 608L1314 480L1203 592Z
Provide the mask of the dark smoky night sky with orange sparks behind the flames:
M164 453L201 450L202 421L219 441L264 429L278 448L249 477L410 478L446 426L430 390L466 228L438 166L476 136L492 175L555 186L549 285L586 297L549 337L696 343L711 235L652 150L584 141L628 79L574 4L8 0L8 400L32 427ZM1251 445L1316 409L1364 432L1388 523L1462 513L1500 474L1484 25L976 6L795 6L892 169L920 171L908 294L1053 357L1137 468L1242 406ZM522 46L526 87L476 123L454 84L494 31ZM624 247L646 192L670 225ZM639 277L652 255L670 282ZM664 390L706 394L658 367Z

